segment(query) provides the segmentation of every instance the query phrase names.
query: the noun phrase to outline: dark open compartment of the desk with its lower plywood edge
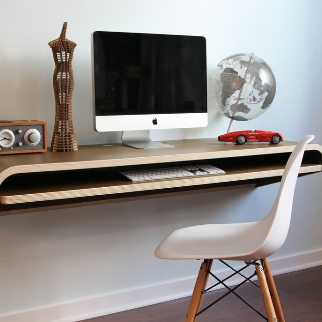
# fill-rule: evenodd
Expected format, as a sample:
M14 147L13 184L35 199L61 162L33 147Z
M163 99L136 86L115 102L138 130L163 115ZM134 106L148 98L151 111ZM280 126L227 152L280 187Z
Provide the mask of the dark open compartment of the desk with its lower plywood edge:
M151 180L144 182L129 182L118 172L133 168L147 168L146 165L127 167L111 167L98 169L83 169L71 171L51 171L33 174L17 174L7 178L0 188L2 204L48 201L55 199L81 198L88 196L133 193L139 191L175 189L185 187L219 185L227 182L253 180L254 183L265 184L266 178L276 178L282 175L289 153L274 155L258 155L256 158L240 156L234 158L202 159L169 164L154 164L158 166L173 166L184 164L213 164L223 170L224 175L198 176L189 178L172 178L166 180ZM305 164L301 172L319 171L320 165Z

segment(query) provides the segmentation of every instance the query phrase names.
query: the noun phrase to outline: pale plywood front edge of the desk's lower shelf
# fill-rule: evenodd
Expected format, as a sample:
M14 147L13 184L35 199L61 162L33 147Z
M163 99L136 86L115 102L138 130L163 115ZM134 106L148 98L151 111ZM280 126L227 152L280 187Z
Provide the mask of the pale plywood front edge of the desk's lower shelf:
M64 189L60 187L59 189L47 192L37 192L37 191L21 191L17 190L10 191L10 193L2 193L0 197L1 204L17 204L17 203L27 203L27 202L38 202L38 201L48 201L48 200L58 200L58 199L69 199L69 198L82 198L89 196L98 195L109 195L109 194L120 194L120 193L131 193L145 191L147 194L152 190L162 190L171 188L183 188L183 187L193 187L200 185L209 184L220 184L227 182L237 182L246 181L250 179L263 179L269 177L282 176L284 169L281 167L272 167L270 170L255 169L249 171L240 172L238 170L230 171L224 175L217 176L205 176L205 177L194 177L194 178L180 178L180 179L168 179L168 180L151 180L139 183L130 182L115 182L112 181L111 184L105 186L94 186L87 187L83 189ZM299 173L312 173L321 171L321 165L305 165L300 168Z

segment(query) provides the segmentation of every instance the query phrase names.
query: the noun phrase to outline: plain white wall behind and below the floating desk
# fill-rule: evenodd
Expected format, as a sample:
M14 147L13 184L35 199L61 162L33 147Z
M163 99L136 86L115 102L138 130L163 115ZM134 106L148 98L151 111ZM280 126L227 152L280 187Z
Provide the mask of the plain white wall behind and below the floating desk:
M64 21L67 38L77 43L72 103L79 145L120 139L120 133L93 130L90 35L95 30L206 36L209 73L230 54L254 52L274 71L277 93L265 114L234 122L232 130L274 130L286 140L312 133L322 144L318 0L1 0L0 6L0 118L47 121L48 144L55 115L48 42L58 38ZM229 120L209 109L207 128L152 136L217 137ZM0 317L194 276L198 262L154 258L159 241L185 225L259 219L277 188L0 217ZM298 180L289 236L275 258L322 249L321 188L320 174Z

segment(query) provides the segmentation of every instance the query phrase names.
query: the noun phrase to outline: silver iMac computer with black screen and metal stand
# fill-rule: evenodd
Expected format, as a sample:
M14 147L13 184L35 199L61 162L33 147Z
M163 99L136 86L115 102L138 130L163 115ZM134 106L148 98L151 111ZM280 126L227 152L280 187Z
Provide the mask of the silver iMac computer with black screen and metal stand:
M95 31L92 67L96 131L152 148L171 145L151 141L151 129L207 125L204 37Z

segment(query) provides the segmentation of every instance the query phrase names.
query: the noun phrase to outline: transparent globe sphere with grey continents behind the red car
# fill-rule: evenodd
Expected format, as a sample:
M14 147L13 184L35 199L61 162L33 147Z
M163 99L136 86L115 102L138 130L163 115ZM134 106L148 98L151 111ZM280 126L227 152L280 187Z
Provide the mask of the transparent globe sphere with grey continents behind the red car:
M226 57L209 79L210 99L217 110L237 121L252 120L267 111L275 92L271 68L253 54Z

